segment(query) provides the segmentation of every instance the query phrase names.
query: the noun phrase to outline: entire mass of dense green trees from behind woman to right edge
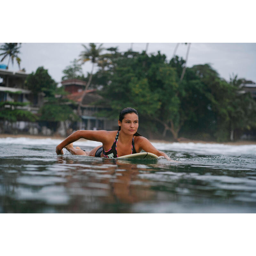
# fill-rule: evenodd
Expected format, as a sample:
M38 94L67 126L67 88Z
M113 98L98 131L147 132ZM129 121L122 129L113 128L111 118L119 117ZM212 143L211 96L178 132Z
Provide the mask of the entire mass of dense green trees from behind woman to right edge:
M186 134L207 134L207 138L212 134L224 141L232 129L256 127L255 100L239 93L245 79L234 77L228 83L204 64L187 68L180 81L185 61L178 56L167 63L160 52L149 56L107 50L110 53L102 55L104 65L100 64L103 68L95 79L103 86L101 94L106 100L101 104L112 109L108 116L116 118L122 108L136 108L151 131L161 124L164 133L169 130L174 139L181 129Z

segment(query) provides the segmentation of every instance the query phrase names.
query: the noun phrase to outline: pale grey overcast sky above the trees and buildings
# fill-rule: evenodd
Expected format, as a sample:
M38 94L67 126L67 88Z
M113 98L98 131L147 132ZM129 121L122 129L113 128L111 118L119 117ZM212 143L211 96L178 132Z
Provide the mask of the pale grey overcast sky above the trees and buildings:
M88 43L84 43L88 45ZM104 43L103 47L116 47L126 51L131 43ZM160 51L172 58L175 43L149 43L147 53ZM145 50L146 43L133 43L133 51ZM36 71L39 66L48 69L56 82L61 81L62 70L78 56L84 47L81 43L22 43L20 48L21 68L27 73ZM185 59L187 45L180 44L177 55ZM1 63L7 64L7 60ZM210 63L221 77L229 80L232 73L256 82L256 43L192 43L188 56L188 67L196 64ZM10 70L18 70L18 65L10 64ZM83 65L83 72L90 72L91 63ZM96 71L96 70L95 70Z

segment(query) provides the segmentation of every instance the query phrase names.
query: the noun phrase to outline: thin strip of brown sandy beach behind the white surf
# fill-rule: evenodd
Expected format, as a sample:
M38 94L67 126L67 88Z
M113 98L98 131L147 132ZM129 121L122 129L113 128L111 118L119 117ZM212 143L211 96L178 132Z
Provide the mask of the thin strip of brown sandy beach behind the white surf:
M0 133L0 138L30 138L30 139L56 139L56 140L64 140L66 137L61 137L61 136L43 136L43 135L29 135L29 134L7 134L7 133ZM85 139L80 139L80 140L85 140ZM79 141L79 140L78 140ZM168 141L168 140L149 140L150 142L153 143L174 143L175 141ZM205 140L189 140L189 139L182 139L179 142L176 143L203 143L203 144L225 144L225 145L234 145L234 146L239 146L239 145L256 145L256 141L252 140L239 140L239 141L229 141L229 142L216 142L216 141L205 141Z

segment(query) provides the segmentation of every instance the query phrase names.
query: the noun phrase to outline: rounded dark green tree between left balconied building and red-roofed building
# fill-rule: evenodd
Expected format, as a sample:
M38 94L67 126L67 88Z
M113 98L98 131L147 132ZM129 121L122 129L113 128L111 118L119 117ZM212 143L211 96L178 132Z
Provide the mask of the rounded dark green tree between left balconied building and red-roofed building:
M52 97L57 88L57 83L44 67L39 67L36 69L36 73L32 72L29 74L25 84L33 93L44 92L46 97Z

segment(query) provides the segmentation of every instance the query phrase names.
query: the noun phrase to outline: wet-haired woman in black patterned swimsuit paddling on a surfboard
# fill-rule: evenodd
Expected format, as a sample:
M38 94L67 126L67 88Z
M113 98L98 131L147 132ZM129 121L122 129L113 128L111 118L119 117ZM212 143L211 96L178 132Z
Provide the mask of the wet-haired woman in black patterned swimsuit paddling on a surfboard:
M134 108L124 108L120 112L118 125L118 131L76 131L56 147L56 153L57 155L63 154L62 148L66 148L72 155L115 158L139 153L143 149L156 156L164 156L166 159L171 160L164 152L157 150L137 132L139 116ZM72 142L81 138L102 142L102 146L93 148L90 152L84 151L79 147L74 148Z

